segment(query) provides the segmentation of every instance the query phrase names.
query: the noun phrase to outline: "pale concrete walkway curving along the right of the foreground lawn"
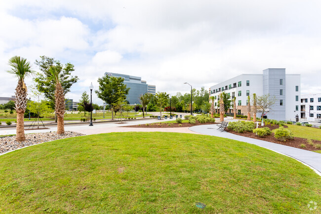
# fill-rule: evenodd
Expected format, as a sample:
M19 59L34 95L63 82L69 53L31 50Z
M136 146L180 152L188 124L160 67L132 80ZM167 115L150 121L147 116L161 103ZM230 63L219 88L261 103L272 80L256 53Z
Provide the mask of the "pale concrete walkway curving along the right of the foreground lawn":
M278 143L272 143L264 140L243 137L243 136L232 134L226 131L221 132L221 129L218 130L217 128L218 126L216 125L202 125L202 126L190 127L189 129L201 134L238 140L238 141L251 143L257 146L261 146L263 148L270 149L274 152L278 152L280 154L289 156L291 158L294 158L302 162L303 164L309 166L314 171L316 171L319 175L321 175L321 154L320 153L311 152L304 149L298 149L290 146L284 146Z

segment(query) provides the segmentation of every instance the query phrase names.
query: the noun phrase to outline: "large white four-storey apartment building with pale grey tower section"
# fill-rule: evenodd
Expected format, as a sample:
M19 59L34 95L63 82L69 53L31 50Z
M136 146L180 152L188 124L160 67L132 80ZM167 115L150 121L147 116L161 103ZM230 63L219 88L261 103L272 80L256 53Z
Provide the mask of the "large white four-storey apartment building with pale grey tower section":
M209 96L214 96L214 105L218 105L218 97L224 91L231 99L236 97L237 114L247 115L247 96L270 94L277 101L268 109L266 118L274 120L300 119L300 75L285 74L285 68L268 68L263 74L241 74L209 89ZM233 112L233 109L230 109ZM257 117L260 117L258 111Z

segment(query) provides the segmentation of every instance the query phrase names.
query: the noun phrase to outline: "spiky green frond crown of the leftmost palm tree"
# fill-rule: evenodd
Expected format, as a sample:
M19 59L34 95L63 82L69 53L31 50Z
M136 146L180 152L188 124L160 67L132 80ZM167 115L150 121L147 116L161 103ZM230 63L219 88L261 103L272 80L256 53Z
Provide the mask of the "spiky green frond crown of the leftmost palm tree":
M9 59L8 64L11 69L7 72L16 75L19 80L24 80L25 77L34 73L34 71L31 70L30 62L23 57L13 56Z

